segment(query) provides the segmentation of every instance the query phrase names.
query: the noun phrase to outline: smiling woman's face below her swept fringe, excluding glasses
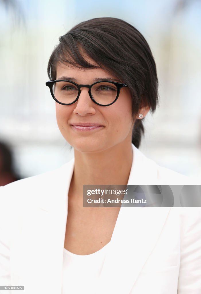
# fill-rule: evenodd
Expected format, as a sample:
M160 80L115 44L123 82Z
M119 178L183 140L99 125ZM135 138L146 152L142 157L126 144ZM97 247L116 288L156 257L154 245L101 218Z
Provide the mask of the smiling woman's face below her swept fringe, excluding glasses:
M90 59L87 60L92 63ZM58 63L56 79L62 77L74 78L77 84L91 85L95 78L110 78L120 82L100 68L83 70ZM88 91L88 88L81 88L78 101L72 105L56 102L57 123L65 140L81 152L100 152L119 143L131 143L133 118L129 88L121 88L118 99L110 106L95 104ZM86 123L96 124L97 127L79 127Z

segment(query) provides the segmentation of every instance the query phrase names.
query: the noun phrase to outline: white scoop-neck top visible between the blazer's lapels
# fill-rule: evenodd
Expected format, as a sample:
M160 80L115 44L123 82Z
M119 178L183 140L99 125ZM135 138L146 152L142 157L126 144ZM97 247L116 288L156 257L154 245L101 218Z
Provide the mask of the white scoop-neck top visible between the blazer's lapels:
M110 243L100 250L77 255L64 248L62 294L94 294Z

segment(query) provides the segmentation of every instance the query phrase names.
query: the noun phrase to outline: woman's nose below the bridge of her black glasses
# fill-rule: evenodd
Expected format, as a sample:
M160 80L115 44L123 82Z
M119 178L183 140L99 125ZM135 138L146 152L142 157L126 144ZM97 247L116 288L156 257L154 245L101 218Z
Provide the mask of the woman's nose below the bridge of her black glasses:
M95 114L95 103L91 100L89 96L89 88L83 87L80 88L80 90L81 93L77 102L75 102L76 107L73 112L81 116L85 116L86 114Z

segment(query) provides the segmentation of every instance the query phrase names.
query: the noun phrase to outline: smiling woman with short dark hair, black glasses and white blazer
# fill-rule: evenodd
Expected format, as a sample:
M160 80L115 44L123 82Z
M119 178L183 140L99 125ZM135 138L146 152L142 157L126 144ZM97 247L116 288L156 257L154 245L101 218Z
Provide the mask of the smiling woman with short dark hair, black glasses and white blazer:
M75 158L0 189L1 285L25 285L25 293L200 293L200 208L83 207L83 185L189 181L138 150L143 119L158 103L146 40L120 19L82 22L60 37L48 75Z

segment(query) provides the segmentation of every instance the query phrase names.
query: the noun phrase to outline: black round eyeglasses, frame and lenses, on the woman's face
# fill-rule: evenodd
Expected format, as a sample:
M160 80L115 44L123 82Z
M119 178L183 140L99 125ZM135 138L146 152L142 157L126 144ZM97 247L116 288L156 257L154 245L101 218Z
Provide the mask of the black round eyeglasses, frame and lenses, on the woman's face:
M121 88L128 87L125 83L112 81L95 82L92 85L78 85L72 81L55 80L45 83L50 88L53 99L63 105L75 103L81 93L80 88L89 88L92 101L101 106L113 104L119 97Z

